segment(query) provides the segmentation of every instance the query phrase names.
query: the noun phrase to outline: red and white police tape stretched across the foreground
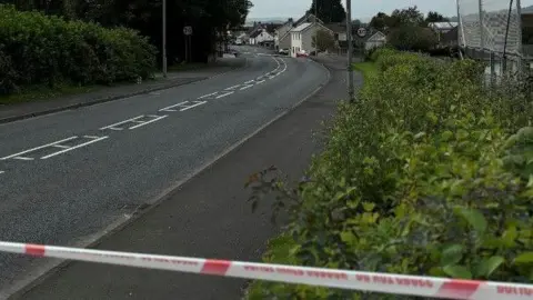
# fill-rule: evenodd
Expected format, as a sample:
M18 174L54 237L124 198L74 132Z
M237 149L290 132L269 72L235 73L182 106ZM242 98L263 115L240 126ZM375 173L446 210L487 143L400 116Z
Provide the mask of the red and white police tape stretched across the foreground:
M533 299L533 286L457 280L435 277L360 272L273 263L214 260L103 251L0 241L0 251L41 258L119 264L127 267L300 283L392 294L444 299Z

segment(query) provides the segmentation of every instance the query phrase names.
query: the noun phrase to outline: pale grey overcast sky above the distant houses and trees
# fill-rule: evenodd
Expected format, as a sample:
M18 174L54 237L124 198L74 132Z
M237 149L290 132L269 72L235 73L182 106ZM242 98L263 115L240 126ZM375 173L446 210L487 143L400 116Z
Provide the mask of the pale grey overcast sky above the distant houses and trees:
M250 11L250 18L298 18L302 16L312 3L312 0L251 0L253 8ZM345 4L345 0L341 0ZM469 4L474 9L476 0L461 0L462 2L472 2ZM504 9L509 6L509 0L483 0L486 7L497 7ZM522 0L522 7L532 6L533 0ZM396 8L406 8L418 6L426 13L430 10L439 11L444 16L455 16L455 0L352 0L352 19L370 19L379 11L386 13Z

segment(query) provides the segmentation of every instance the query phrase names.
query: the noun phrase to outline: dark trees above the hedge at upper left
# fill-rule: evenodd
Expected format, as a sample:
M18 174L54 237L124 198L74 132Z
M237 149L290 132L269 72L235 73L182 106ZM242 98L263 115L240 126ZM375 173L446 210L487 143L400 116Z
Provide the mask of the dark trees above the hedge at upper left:
M139 30L161 50L162 0L0 0L19 10L40 10L68 19L94 21L104 27L124 26ZM182 28L191 26L192 59L207 61L218 40L217 32L244 23L250 0L167 0L168 58L184 57ZM171 37L171 38L170 38Z

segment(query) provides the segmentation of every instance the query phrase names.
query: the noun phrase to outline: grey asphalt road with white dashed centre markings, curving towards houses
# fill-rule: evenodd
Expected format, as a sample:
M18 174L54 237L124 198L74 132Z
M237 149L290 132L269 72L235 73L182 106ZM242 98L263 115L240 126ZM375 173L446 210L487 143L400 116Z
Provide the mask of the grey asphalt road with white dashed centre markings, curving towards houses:
M224 76L0 126L0 239L84 244L328 78L306 59L244 52L247 67ZM46 268L1 254L0 290Z

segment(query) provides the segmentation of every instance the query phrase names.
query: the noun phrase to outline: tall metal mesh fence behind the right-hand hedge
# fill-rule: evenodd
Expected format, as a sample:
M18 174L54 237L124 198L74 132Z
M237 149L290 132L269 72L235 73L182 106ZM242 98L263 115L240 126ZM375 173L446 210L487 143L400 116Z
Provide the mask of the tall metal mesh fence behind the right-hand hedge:
M522 44L520 0L456 0L463 54L486 62L485 81L529 74L533 49Z

